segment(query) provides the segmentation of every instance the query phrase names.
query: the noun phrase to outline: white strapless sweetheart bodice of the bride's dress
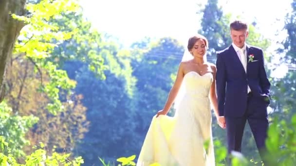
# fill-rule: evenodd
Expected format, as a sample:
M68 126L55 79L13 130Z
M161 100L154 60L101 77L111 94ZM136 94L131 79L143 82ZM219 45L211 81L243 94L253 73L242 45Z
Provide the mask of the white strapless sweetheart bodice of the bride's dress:
M213 82L213 74L208 72L201 76L195 71L189 71L185 74L183 82L185 95L207 98Z

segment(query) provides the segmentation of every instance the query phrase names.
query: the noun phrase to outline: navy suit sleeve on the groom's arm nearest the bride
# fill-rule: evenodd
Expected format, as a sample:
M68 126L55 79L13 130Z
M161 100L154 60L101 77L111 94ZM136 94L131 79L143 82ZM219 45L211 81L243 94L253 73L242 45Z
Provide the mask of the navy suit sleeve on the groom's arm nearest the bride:
M219 116L224 116L224 102L225 102L225 88L226 88L226 68L223 61L223 57L220 53L217 54L217 74L216 74L216 86L218 97L218 110Z

